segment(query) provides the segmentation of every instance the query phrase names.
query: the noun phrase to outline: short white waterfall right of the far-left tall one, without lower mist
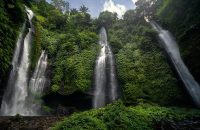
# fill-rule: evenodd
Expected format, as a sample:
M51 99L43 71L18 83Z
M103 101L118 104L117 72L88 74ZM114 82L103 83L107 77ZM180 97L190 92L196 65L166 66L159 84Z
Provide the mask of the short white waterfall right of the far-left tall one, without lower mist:
M46 83L46 78L45 78L46 68L47 68L47 54L45 54L45 51L42 51L42 54L38 60L37 66L29 83L30 91L34 95L41 96L43 92Z

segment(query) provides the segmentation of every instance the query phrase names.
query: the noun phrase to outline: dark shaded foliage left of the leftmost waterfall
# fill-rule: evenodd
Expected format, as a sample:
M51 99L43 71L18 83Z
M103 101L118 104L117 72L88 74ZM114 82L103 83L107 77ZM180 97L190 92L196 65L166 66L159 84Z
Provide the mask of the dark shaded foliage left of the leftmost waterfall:
M9 73L18 31L24 21L22 7L20 1L0 1L0 82Z

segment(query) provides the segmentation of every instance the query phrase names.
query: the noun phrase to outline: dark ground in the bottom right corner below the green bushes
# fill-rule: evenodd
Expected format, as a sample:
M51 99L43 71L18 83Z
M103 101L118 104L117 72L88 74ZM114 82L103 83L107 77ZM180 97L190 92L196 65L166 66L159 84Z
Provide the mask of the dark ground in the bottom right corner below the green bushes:
M155 124L155 130L200 130L200 118L183 121L162 120Z

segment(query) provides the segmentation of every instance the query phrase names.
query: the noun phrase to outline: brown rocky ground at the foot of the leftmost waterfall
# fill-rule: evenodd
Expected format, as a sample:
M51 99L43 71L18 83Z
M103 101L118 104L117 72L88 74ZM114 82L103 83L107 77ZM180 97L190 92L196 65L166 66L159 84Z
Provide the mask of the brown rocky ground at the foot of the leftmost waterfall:
M0 117L0 130L48 130L64 117Z

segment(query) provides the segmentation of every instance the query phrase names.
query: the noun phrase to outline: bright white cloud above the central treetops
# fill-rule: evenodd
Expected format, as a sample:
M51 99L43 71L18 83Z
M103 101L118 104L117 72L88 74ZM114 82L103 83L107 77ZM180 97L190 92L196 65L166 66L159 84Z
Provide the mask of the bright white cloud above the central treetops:
M117 13L119 18L126 12L126 7L121 4L115 4L113 0L106 0L103 6L103 11Z

